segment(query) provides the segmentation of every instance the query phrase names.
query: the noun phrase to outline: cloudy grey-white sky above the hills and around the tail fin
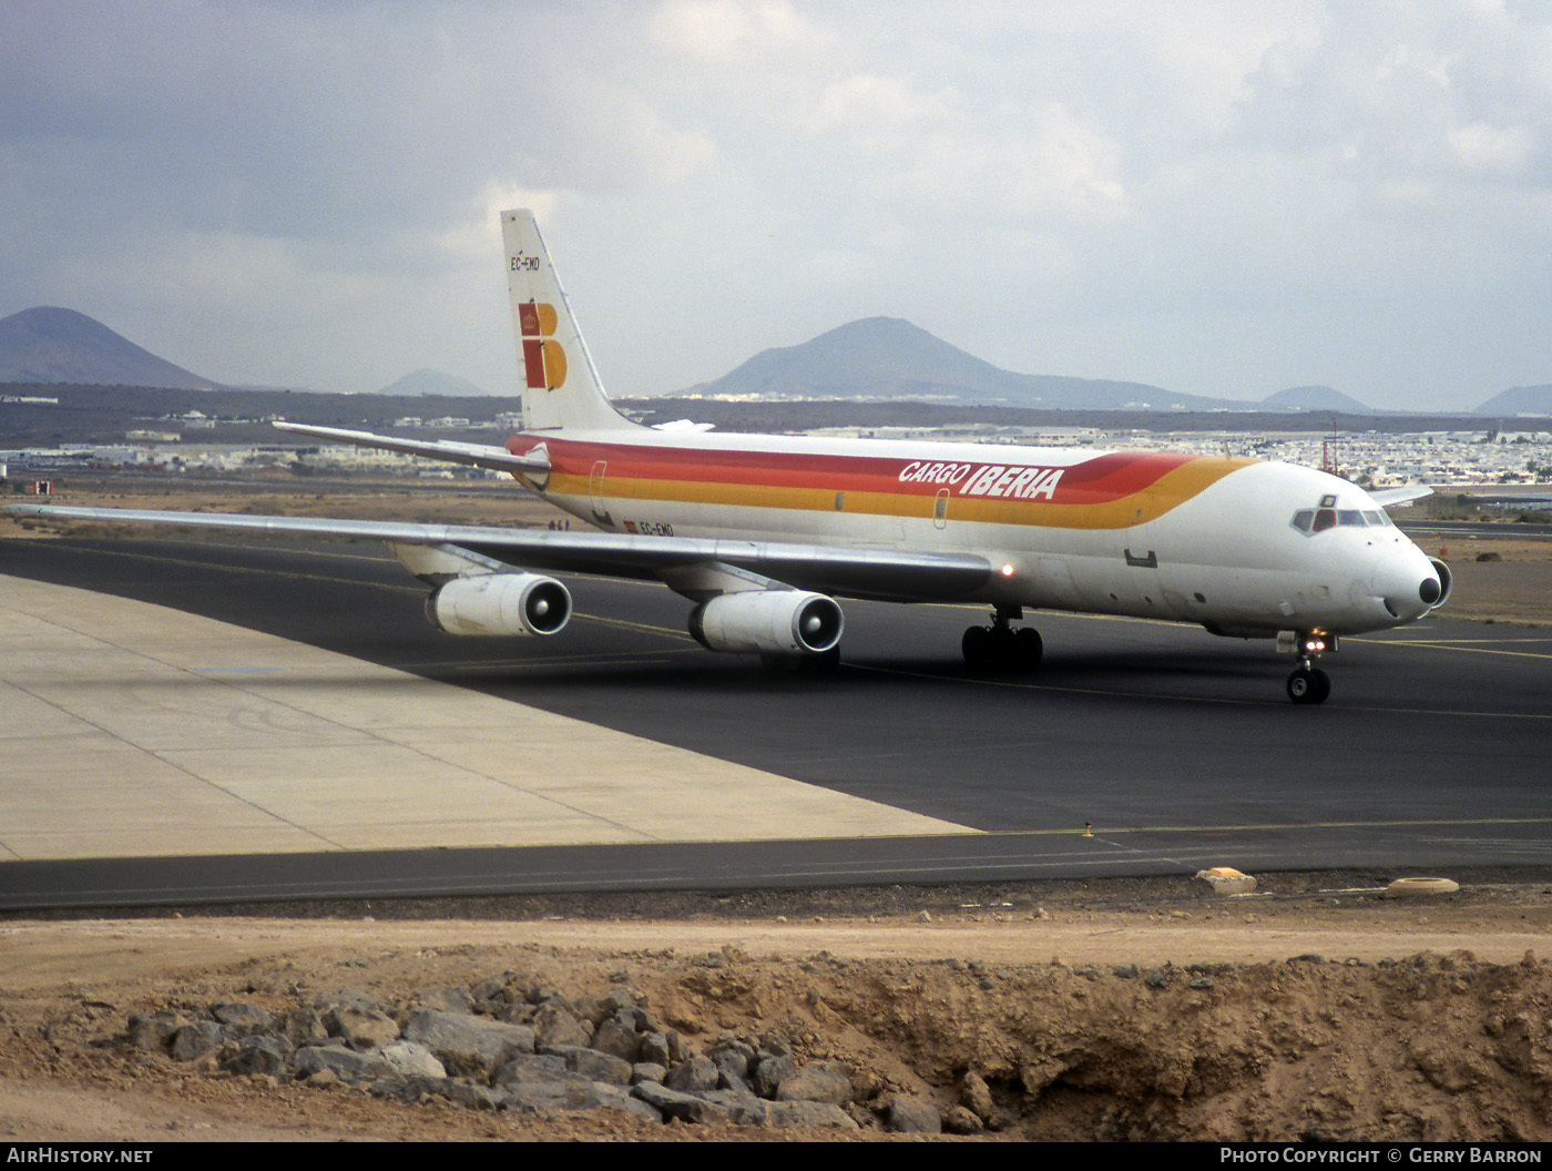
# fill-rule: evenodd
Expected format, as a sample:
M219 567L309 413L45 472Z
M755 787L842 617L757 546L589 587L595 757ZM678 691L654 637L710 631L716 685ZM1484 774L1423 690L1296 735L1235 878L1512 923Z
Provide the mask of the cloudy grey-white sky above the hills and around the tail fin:
M0 317L515 393L531 207L615 396L903 317L995 365L1552 382L1552 0L0 0Z

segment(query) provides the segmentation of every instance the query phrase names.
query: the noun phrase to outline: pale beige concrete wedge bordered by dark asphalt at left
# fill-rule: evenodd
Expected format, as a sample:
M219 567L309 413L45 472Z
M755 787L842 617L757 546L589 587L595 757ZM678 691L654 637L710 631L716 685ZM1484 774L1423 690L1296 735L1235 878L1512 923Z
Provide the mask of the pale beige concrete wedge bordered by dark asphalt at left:
M0 576L0 859L959 832L237 626Z

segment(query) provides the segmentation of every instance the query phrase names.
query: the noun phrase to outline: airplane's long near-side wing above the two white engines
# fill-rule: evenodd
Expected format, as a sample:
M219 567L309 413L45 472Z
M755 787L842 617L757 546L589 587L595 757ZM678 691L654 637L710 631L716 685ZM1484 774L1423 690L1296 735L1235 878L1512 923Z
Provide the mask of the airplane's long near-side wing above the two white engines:
M417 525L397 520L334 520L175 513L137 508L5 505L17 516L112 523L180 525L312 537L366 537L400 545L455 547L525 570L591 573L605 578L681 581L697 568L734 567L819 593L875 601L956 601L992 578L992 562L972 553L802 545L781 540L653 537L630 533Z

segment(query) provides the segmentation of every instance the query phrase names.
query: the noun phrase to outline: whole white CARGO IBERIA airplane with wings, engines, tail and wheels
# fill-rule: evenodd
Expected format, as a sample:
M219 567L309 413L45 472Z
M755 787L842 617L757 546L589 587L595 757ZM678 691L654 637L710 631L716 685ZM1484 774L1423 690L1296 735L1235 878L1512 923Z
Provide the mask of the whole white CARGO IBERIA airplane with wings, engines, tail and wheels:
M641 426L599 380L531 211L501 213L523 429L504 446L276 422L289 433L512 475L591 531L9 506L37 516L382 539L430 587L450 635L554 635L571 596L551 573L660 581L692 603L705 648L832 669L837 598L975 603L978 671L1032 671L1031 609L1195 623L1296 657L1294 704L1344 635L1417 621L1451 593L1366 492L1288 463L1187 453L737 435Z

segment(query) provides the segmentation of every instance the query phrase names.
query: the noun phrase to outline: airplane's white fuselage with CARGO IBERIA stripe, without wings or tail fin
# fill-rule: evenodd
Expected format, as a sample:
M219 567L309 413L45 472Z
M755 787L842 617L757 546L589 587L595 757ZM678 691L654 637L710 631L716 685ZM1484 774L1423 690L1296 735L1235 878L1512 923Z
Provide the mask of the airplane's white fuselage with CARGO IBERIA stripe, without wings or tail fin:
M528 433L545 495L621 533L973 553L975 601L1358 634L1414 621L1439 575L1355 485L1282 463L954 443ZM1297 517L1304 516L1302 528Z

